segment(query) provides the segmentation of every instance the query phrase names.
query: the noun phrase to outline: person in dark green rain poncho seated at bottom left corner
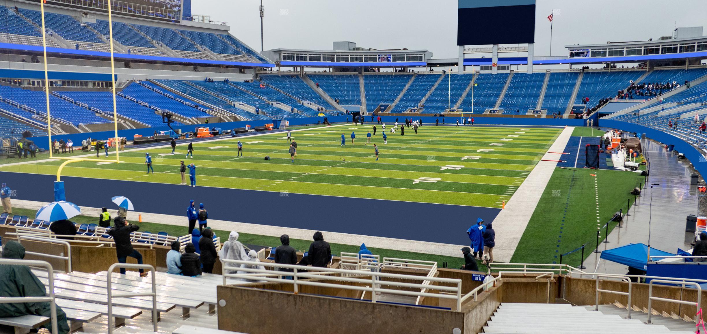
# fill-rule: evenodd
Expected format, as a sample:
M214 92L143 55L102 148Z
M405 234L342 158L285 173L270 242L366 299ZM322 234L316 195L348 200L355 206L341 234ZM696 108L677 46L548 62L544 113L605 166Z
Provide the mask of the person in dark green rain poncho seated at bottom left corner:
M16 241L3 242L2 258L25 258L25 247ZM0 297L45 297L47 290L28 266L0 265ZM0 304L0 318L11 316L52 316L49 302ZM45 325L51 329L51 323ZM69 333L66 314L57 306L57 330L59 334ZM56 334L56 333L54 333Z

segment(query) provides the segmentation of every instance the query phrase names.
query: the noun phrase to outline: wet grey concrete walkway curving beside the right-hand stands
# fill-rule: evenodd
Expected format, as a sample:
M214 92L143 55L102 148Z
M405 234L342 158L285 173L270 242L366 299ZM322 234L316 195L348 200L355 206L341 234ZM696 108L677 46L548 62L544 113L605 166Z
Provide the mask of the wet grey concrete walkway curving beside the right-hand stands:
M609 243L601 243L599 250L627 244L648 244L649 231L650 246L654 249L670 253L676 253L678 248L691 249L694 233L685 232L685 220L687 215L697 215L698 191L697 186L690 185L691 172L686 167L689 160L678 159L677 155L654 141L643 139L642 144L650 164L648 185L641 196L636 198L636 205L629 210L630 215L624 217L621 228L614 228L607 238ZM614 274L628 272L628 266L600 259L600 255L590 254L584 263L587 267L585 271Z

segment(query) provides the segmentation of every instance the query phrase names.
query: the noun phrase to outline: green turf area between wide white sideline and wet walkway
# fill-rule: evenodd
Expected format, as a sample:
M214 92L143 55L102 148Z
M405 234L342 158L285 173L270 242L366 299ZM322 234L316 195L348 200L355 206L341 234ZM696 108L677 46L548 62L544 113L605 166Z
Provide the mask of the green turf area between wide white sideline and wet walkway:
M574 169L574 170L573 170ZM629 192L645 177L635 172L609 169L556 168L530 218L513 263L559 263L559 255L586 244L585 258L595 249L597 227L604 227L614 213L626 212L627 201L633 205ZM596 174L599 197L599 217L595 201ZM566 210L566 213L565 213ZM563 220L564 218L564 222ZM609 232L616 223L609 225ZM606 229L600 229L600 241ZM563 258L563 263L578 266L580 252Z

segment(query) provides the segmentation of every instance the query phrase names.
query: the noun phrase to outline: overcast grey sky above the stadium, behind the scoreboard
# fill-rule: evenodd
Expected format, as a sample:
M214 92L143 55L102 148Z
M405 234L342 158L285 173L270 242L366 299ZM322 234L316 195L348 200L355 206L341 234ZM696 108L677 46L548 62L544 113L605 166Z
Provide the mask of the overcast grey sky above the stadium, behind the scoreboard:
M491 1L491 0L489 0ZM230 23L230 32L260 50L259 0L192 0L194 14ZM456 0L263 0L265 49L332 49L349 40L374 49L428 49L457 57ZM658 39L677 27L706 26L707 0L537 0L535 56L566 44ZM473 19L473 18L469 18ZM503 20L503 16L499 16ZM677 21L677 23L676 23ZM513 24L513 23L508 23Z

